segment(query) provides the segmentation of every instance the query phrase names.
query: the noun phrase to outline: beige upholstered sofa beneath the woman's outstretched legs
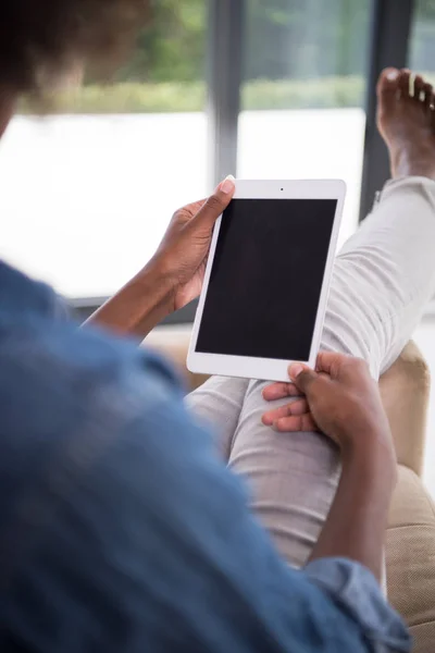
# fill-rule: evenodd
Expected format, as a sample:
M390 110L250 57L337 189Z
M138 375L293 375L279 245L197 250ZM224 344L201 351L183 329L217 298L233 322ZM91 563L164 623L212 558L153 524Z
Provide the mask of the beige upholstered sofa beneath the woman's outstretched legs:
M204 378L186 370L188 342L187 330L161 330L148 338L194 389ZM427 366L411 343L382 378L381 392L399 464L386 541L388 596L410 627L415 653L435 652L435 506L421 481L428 391Z

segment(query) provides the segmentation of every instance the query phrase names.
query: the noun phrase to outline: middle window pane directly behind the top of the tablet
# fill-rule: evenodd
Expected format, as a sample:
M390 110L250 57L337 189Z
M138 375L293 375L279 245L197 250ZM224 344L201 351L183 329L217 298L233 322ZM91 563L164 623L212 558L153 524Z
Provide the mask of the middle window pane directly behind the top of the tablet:
M247 7L238 173L344 178L343 241L358 224L371 2Z

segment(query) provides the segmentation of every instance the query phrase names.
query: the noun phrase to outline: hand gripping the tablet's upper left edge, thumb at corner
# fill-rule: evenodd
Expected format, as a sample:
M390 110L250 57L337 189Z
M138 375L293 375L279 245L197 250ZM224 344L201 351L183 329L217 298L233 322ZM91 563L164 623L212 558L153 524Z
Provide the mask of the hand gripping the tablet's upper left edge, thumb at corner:
M201 293L214 223L235 192L235 180L226 177L207 200L175 212L151 266L172 287L173 310L183 308Z

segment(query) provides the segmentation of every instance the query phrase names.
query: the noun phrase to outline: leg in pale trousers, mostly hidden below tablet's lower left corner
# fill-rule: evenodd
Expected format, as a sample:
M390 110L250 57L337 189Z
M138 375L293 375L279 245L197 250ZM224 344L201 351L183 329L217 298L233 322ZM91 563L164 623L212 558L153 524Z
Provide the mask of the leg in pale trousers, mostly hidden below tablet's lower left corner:
M186 397L188 408L216 432L220 454L228 461L249 381L213 377Z

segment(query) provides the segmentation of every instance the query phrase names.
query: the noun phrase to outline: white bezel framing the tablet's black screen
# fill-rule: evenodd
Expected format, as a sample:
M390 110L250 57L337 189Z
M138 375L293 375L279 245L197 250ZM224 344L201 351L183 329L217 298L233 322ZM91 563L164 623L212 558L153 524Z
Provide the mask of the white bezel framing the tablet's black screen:
M326 259L322 291L319 301L315 326L311 342L310 357L306 362L315 366L319 353L326 303L330 293L334 258L337 247L346 184L340 180L303 180L303 181L245 181L237 180L234 199L336 199L337 209L334 218L333 232ZM202 320L210 274L214 261L222 215L216 222L207 264L202 293L192 328L187 367L191 372L201 374L219 374L223 377L239 377L247 379L266 379L271 381L288 381L288 366L291 360L271 358L253 358L247 356L228 356L223 354L202 354L196 352L199 329ZM289 293L290 296L290 293Z

